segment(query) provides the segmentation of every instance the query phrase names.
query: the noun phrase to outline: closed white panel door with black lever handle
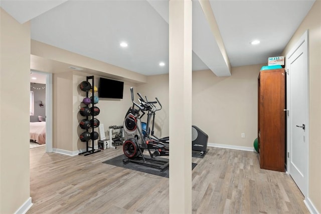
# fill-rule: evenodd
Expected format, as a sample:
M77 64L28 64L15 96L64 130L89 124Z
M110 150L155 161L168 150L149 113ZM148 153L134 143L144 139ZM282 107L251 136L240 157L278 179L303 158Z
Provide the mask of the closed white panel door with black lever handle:
M288 172L306 196L308 186L308 32L287 56Z

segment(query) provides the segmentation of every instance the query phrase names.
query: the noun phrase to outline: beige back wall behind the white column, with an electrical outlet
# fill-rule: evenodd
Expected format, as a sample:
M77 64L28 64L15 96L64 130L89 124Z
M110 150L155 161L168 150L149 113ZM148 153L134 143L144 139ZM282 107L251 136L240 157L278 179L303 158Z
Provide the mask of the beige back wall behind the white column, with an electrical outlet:
M234 67L231 77L216 77L210 70L193 72L192 123L209 135L209 143L253 148L257 137L257 76L262 66ZM137 92L161 101L163 109L156 112L155 134L168 136L169 76L148 76Z

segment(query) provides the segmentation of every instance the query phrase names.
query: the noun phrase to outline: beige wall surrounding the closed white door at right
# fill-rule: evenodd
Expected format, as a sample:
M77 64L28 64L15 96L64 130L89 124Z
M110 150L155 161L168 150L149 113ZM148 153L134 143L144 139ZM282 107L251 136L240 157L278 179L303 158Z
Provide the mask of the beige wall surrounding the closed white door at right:
M321 1L315 1L311 10L285 47L282 56L309 30L309 193L308 197L321 213Z

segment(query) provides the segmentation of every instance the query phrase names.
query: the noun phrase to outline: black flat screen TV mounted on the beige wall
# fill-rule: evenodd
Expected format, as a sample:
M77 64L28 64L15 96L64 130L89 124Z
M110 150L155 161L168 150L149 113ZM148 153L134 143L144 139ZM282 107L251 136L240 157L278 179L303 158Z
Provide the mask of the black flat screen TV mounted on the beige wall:
M122 99L123 91L124 82L105 78L99 79L98 97Z

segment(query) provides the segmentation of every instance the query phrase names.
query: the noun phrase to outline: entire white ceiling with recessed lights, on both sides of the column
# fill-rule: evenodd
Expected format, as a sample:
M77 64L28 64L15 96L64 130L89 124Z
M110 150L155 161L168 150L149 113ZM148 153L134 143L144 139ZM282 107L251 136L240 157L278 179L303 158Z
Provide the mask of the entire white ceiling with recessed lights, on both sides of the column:
M279 56L313 3L210 0L232 67L267 63L268 57ZM0 0L0 4L20 23L31 20L33 40L144 75L169 72L168 1ZM230 76L211 27L200 2L193 1L193 70ZM250 45L254 39L261 43ZM119 46L122 41L127 48ZM159 62L166 65L159 67Z

